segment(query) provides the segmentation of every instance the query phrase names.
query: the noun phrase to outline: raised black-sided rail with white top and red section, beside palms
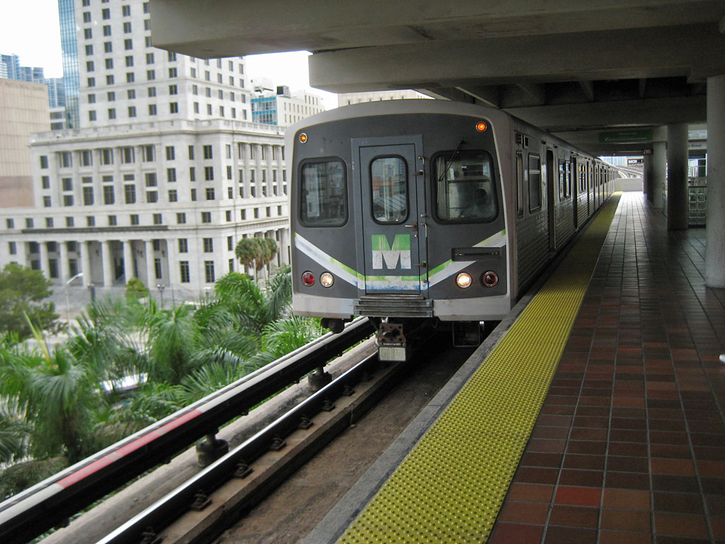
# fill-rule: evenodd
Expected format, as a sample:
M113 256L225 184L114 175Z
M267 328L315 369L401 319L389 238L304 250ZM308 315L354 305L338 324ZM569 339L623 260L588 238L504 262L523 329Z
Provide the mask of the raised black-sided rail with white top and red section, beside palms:
M219 426L247 413L372 332L368 319L358 318L340 334L328 333L5 500L0 503L0 542L22 544L64 524L70 515L167 461L195 440L215 434Z

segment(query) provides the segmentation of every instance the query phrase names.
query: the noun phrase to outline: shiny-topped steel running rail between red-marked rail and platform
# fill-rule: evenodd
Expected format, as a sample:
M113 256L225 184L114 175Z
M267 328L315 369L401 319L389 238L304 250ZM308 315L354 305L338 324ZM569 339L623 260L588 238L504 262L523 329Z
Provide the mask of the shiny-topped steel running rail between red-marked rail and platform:
M152 532L158 532L176 519L185 514L194 502L194 499L203 490L210 495L225 482L233 477L239 463L245 465L253 463L270 450L270 444L275 439L284 439L292 432L299 429L299 423L303 417L313 417L323 410L323 405L335 400L343 394L344 387L352 386L363 378L363 375L371 371L378 363L378 356L371 355L365 360L357 363L344 374L341 374L333 382L323 387L314 395L308 397L289 412L280 416L276 421L269 424L254 436L243 442L237 448L215 461L206 469L196 474L187 482L180 485L165 497L157 500L137 516L125 522L109 535L99 540L96 544L138 544L147 540L154 541L154 537L148 538ZM344 426L347 426L345 424ZM230 512L225 512L229 515ZM160 541L160 539L159 539Z

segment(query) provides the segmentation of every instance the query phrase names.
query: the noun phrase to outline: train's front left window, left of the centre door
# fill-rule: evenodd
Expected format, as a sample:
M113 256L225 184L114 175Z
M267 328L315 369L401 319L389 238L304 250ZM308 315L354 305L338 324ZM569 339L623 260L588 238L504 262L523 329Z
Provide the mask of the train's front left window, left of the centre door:
M299 218L305 226L342 226L347 222L345 165L341 160L305 162L301 167Z

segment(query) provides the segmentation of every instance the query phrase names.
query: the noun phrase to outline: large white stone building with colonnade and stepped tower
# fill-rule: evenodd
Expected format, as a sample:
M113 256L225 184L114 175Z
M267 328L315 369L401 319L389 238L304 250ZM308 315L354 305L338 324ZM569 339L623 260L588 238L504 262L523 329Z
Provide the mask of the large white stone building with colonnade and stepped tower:
M33 136L35 206L0 210L0 265L198 296L239 270L241 238L275 238L288 262L283 128L252 123L244 59L154 48L148 1L59 11L69 124Z

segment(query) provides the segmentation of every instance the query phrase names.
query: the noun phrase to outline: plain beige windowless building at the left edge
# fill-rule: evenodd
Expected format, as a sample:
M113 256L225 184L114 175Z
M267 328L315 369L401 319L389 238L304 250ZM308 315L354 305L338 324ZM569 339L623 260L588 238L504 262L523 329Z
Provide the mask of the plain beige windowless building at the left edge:
M33 205L30 133L49 128L48 88L0 79L0 207Z

